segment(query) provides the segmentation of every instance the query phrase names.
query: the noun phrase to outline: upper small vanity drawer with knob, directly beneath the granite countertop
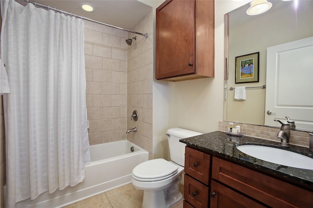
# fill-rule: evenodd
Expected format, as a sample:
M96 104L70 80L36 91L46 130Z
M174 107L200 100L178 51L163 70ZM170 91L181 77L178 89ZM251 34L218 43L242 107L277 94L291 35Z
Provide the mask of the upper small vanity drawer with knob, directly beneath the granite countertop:
M211 155L186 147L185 173L209 185Z

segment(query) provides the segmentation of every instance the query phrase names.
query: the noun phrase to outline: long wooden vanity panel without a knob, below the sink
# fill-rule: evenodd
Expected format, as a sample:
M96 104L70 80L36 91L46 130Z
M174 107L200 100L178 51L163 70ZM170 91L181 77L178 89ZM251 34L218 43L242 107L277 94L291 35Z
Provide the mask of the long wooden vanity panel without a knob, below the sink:
M217 157L212 159L212 179L270 207L312 207L313 192Z

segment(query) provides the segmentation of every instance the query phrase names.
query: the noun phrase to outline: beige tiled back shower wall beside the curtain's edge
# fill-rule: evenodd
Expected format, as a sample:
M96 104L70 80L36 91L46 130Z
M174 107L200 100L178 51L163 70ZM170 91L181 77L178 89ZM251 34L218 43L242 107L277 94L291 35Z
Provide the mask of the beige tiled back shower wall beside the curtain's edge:
M126 139L127 32L85 21L89 143Z

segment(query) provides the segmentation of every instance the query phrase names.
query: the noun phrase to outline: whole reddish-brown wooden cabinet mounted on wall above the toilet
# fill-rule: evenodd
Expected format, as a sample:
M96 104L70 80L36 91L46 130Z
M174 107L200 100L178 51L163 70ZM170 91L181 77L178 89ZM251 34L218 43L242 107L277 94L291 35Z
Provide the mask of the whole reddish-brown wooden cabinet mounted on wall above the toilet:
M156 79L214 77L214 0L166 0L156 9Z

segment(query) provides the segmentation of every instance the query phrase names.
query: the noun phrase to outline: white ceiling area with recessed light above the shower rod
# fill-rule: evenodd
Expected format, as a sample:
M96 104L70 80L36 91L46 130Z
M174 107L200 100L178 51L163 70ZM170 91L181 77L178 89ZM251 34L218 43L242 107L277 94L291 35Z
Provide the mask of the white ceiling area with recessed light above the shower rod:
M85 18L117 27L131 29L152 7L137 0L32 0ZM85 12L80 4L86 2L95 7L94 12Z

